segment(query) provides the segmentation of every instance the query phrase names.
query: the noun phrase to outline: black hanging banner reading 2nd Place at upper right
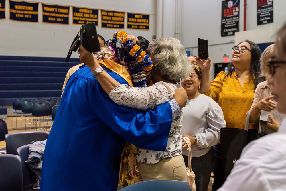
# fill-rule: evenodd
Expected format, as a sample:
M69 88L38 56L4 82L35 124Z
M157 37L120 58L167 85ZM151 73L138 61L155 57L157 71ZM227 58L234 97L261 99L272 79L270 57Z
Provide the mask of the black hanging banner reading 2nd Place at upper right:
M257 0L257 25L273 23L273 0Z

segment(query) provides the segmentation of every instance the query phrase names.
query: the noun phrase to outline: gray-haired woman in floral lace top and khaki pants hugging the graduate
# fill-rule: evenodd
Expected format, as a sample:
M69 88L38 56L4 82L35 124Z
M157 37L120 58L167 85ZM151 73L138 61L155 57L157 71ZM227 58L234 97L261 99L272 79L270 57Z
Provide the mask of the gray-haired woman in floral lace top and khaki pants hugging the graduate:
M91 71L100 65L96 59L85 60L83 47L79 53L81 61L86 63ZM119 85L106 72L96 75L102 88L109 97L119 105L152 109L173 98L179 88L179 82L191 71L186 51L181 42L175 38L159 38L150 42L147 52L153 62L151 80L154 85L149 87L131 88ZM185 90L177 90L179 97L185 97ZM184 96L183 96L184 94ZM182 112L178 110L173 116L167 147L164 152L139 149L136 156L137 167L144 181L146 180L182 180L187 181L184 158L182 157L182 142L180 128L182 127Z

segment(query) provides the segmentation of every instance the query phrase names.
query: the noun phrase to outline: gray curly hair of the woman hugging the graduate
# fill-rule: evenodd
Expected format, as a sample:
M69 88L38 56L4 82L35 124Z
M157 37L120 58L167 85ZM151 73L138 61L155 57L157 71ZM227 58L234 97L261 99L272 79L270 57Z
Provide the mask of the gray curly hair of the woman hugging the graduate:
M152 56L152 72L164 80L180 82L180 79L185 79L192 70L186 50L176 38L154 39L147 51Z

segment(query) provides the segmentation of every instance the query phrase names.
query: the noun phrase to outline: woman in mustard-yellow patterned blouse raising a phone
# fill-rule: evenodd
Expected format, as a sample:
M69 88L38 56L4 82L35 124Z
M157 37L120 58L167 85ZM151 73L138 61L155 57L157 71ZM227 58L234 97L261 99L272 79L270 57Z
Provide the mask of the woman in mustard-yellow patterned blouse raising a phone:
M210 96L220 105L226 121L226 127L244 129L246 112L250 109L257 84L265 81L260 75L261 50L257 44L245 40L232 48L232 59L228 72L220 72L210 82L210 60L199 59L201 88L199 92ZM214 184L215 191L225 181L220 159L220 143L214 147Z

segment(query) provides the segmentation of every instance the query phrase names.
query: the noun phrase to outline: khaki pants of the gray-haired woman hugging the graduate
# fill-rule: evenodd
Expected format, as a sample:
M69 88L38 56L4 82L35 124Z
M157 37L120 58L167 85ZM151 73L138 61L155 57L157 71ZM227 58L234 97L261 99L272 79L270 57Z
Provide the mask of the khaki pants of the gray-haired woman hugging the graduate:
M137 163L143 181L181 180L187 181L187 171L182 155L165 158L155 164Z

